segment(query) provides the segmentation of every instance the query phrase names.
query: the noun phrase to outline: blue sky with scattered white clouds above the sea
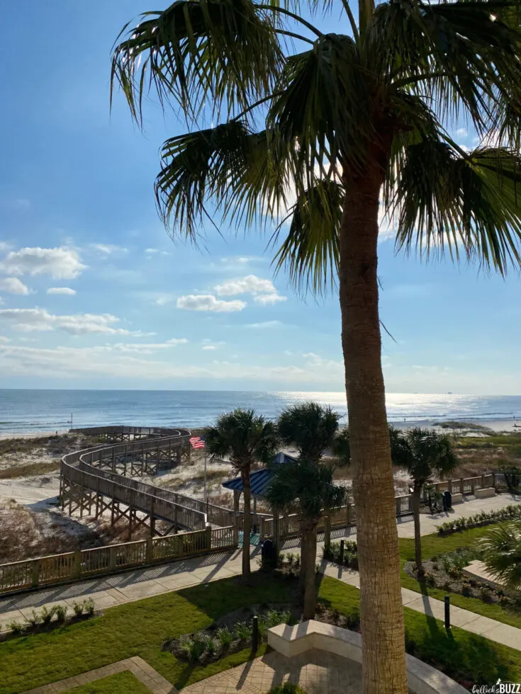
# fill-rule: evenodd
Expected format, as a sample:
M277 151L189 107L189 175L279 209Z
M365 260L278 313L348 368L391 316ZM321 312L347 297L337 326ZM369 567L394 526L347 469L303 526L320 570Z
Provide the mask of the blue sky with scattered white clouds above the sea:
M151 102L142 133L121 96L108 108L113 40L150 8L4 8L0 387L340 391L336 297L298 298L255 231L198 250L157 218L158 149L184 125ZM519 275L427 265L381 238L388 391L520 394Z

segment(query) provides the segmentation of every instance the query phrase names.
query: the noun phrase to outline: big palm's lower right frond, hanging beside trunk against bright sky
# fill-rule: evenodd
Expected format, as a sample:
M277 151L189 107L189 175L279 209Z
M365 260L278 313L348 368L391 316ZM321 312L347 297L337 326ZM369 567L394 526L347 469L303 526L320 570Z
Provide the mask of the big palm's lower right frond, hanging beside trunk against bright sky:
M504 274L521 262L521 157L506 148L462 152L426 138L405 148L394 196L398 249L448 249Z

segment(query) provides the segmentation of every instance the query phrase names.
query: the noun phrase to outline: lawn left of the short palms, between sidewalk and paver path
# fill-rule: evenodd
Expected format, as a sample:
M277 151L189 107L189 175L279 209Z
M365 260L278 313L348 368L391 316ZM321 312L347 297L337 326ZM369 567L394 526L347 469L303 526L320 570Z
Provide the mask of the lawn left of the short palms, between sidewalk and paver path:
M236 653L209 666L186 664L161 646L167 639L208 627L245 605L291 603L292 581L255 573L252 586L237 578L193 586L178 593L120 605L96 617L51 632L16 637L0 644L0 694L16 694L118 660L141 656L176 686L197 681L247 660Z

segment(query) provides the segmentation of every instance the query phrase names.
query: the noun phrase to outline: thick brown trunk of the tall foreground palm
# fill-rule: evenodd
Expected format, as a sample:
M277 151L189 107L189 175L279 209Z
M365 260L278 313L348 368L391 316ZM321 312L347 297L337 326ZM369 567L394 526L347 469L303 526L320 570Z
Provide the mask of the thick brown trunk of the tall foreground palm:
M364 694L407 694L398 530L381 368L377 243L381 166L346 181L340 308L360 567Z

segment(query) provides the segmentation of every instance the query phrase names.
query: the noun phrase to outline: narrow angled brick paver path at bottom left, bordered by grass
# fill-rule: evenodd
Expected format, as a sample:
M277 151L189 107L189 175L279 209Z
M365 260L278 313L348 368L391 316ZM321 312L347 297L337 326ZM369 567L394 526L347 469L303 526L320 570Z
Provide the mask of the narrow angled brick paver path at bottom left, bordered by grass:
M24 694L56 694L57 692L67 692L69 689L74 689L74 687L89 684L89 682L101 680L104 677L116 675L116 673L124 672L125 670L130 670L145 687L150 689L152 694L177 694L177 689L173 687L168 680L165 680L154 668L138 656L120 660L117 663L106 665L103 668L89 670L89 672L84 672L75 677L67 677L65 680L46 684L43 687L30 689L24 692Z

